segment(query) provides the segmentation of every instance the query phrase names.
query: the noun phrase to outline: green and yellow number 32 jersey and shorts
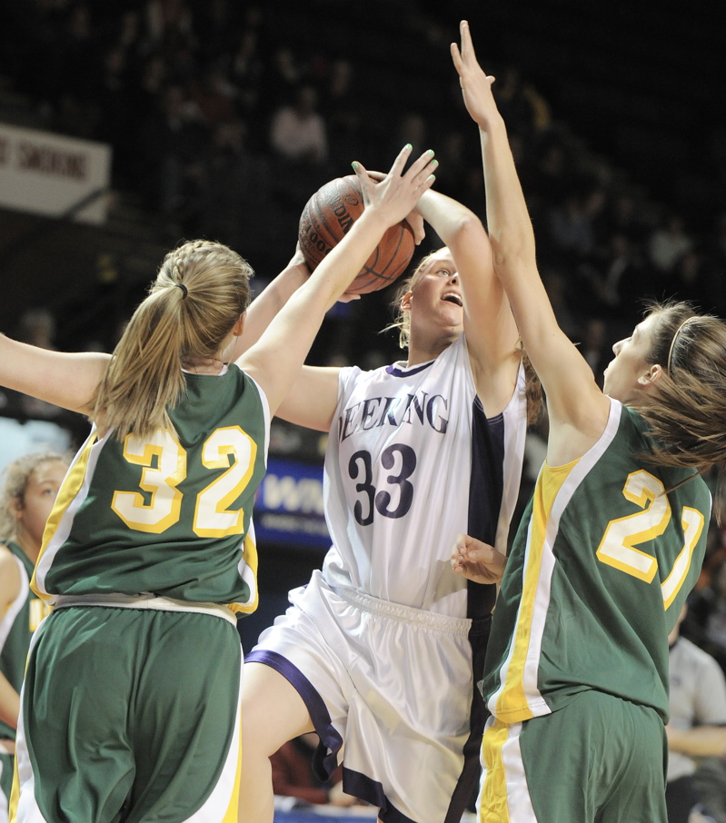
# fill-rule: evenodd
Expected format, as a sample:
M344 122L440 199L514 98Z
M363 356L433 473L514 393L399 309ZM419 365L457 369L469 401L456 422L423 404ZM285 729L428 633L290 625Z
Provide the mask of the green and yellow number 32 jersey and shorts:
M31 583L54 610L28 662L11 821L236 819L235 614L257 605L269 410L236 366L186 382L178 437L93 431L59 491Z

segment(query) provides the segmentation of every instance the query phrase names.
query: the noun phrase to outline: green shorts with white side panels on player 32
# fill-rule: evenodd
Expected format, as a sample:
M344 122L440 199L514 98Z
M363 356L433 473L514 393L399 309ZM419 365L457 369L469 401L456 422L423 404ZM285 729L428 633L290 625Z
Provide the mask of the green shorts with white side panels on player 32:
M28 658L18 823L236 819L241 680L239 635L223 618L56 610Z

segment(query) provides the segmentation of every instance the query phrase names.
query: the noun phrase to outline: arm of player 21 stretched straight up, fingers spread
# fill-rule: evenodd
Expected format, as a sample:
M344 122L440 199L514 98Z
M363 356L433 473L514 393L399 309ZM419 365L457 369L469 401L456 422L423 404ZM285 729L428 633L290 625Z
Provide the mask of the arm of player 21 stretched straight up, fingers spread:
M452 56L464 104L479 126L494 270L547 394L548 461L559 465L580 457L598 439L610 402L598 389L587 362L557 324L537 271L532 223L504 121L492 95L494 78L484 74L477 63L465 21L461 36L461 51L453 44Z

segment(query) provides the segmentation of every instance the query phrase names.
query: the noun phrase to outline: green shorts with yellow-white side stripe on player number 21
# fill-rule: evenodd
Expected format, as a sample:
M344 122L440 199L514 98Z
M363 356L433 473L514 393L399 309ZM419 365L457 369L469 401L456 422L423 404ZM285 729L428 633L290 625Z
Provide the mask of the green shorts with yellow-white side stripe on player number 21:
M655 709L601 691L523 723L491 718L480 823L666 823L667 756Z

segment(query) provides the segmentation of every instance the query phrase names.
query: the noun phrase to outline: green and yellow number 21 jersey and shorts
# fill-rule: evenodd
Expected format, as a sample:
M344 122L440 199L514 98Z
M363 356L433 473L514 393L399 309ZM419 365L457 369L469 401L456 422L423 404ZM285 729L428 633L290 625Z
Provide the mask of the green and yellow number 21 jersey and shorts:
M487 649L482 820L664 819L667 639L701 570L711 494L648 461L646 430L611 401L590 451L542 467ZM647 798L632 793L643 769Z

